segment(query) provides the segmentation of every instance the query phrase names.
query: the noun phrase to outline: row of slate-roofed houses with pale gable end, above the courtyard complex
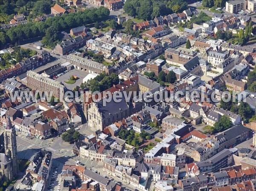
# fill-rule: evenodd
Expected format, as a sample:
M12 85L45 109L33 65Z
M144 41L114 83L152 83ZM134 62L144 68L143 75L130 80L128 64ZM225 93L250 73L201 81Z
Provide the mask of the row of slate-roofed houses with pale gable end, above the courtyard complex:
M86 40L90 39L92 36L89 35L87 37L78 36L75 38L70 38L66 41L63 41L60 44L57 44L54 48L56 54L69 54L70 51L76 50L77 48L81 48L86 45Z

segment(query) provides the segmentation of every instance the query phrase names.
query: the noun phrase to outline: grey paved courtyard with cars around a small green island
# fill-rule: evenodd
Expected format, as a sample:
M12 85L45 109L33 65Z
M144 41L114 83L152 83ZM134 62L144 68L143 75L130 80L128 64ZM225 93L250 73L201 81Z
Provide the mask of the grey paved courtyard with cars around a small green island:
M57 80L58 82L63 83L68 89L73 90L73 88L76 87L76 86L79 86L79 87L80 87L81 83L83 82L84 77L86 77L87 74L88 74L88 73L86 73L86 72L84 72L84 71L79 71L79 70L77 70L77 69L73 69L73 70L70 70L70 71L68 71L67 73L61 75L61 76L58 77L56 80ZM68 80L70 79L70 76L72 76L72 75L75 75L75 76L78 77L78 79L76 80L76 82L73 83L73 84L67 84L67 83L65 83L65 81L68 81Z

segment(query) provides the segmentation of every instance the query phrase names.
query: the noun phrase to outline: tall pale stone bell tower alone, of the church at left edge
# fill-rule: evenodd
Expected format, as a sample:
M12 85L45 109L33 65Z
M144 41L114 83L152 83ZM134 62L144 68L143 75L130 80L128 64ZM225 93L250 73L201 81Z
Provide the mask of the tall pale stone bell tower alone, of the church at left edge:
M12 161L13 175L17 175L17 142L16 131L12 126L10 117L7 117L6 128L4 129L4 150L7 157Z

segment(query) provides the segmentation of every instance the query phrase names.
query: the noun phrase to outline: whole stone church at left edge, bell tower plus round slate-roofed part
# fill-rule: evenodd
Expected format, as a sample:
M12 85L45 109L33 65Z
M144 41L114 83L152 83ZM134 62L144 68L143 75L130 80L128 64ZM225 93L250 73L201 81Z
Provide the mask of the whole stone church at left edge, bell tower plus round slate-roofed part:
M0 180L9 181L17 175L18 169L16 131L9 116L7 116L6 127L3 129L3 137L4 150L0 153Z

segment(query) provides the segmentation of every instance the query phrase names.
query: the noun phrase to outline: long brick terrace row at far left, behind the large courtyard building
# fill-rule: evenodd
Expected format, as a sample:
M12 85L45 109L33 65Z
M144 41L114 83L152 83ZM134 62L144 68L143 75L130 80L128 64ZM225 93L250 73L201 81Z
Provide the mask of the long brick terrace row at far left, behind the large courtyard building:
M33 70L35 68L38 68L39 66L42 66L50 61L50 54L47 51L39 51L38 54L35 56L20 61L15 66L11 68L6 68L4 70L0 71L0 78L1 81L6 80L10 77L15 77L20 74L25 73L26 71Z

